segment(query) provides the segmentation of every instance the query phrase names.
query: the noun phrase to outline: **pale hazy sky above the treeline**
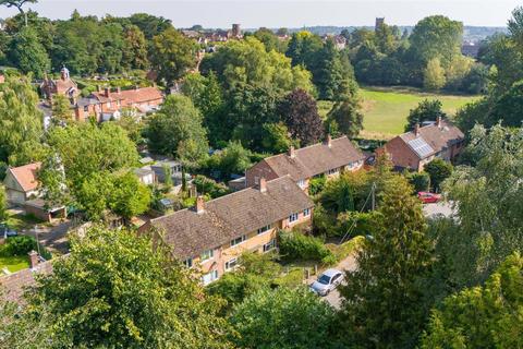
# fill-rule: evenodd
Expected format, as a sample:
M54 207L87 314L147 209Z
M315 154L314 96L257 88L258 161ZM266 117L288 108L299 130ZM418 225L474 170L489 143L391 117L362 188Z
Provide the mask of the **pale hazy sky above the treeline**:
M377 16L385 16L388 24L414 25L433 14L465 25L506 26L512 10L521 4L513 0L39 0L27 8L53 20L68 19L77 9L82 15L98 16L147 12L172 20L177 27L229 27L240 23L243 28L276 28L374 25ZM2 7L0 17L16 11Z

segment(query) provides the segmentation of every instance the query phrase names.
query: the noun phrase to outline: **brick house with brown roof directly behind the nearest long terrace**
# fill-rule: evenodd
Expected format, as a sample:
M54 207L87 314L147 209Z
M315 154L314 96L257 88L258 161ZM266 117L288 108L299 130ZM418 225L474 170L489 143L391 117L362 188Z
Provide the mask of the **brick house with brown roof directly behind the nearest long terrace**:
M338 176L341 171L356 171L363 167L365 156L352 142L342 136L304 148L291 147L288 154L267 157L246 171L246 186L257 185L260 178L272 180L283 176L290 178L304 191L316 176Z

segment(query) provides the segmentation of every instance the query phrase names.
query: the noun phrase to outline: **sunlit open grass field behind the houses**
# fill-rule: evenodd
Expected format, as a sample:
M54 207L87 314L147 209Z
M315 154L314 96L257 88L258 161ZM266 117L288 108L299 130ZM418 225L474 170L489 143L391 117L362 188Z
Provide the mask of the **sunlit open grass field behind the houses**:
M365 116L361 136L368 140L388 140L404 132L409 111L425 98L439 99L443 111L453 115L476 96L435 95L411 87L362 87L362 109ZM318 112L325 118L332 103L318 101Z

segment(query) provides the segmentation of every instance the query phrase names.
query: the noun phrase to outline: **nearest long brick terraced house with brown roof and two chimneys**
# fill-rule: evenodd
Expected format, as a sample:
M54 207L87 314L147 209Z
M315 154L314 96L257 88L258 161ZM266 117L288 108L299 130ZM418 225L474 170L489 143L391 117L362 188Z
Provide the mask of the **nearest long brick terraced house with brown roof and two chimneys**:
M314 203L289 176L256 188L204 202L155 218L138 229L151 232L187 267L202 273L204 285L234 269L242 253L277 248L279 229L311 224Z

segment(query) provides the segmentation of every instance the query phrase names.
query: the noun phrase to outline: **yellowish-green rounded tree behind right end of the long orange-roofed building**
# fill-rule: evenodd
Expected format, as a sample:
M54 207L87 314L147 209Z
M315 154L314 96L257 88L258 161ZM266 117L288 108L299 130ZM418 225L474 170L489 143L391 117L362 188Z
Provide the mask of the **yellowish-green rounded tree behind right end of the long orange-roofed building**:
M150 63L158 73L158 82L167 86L182 77L196 65L196 49L193 40L173 27L153 38Z

